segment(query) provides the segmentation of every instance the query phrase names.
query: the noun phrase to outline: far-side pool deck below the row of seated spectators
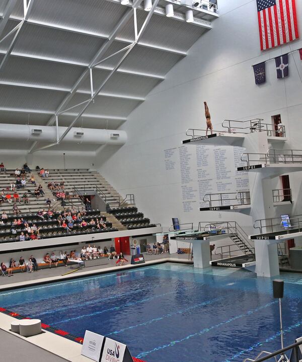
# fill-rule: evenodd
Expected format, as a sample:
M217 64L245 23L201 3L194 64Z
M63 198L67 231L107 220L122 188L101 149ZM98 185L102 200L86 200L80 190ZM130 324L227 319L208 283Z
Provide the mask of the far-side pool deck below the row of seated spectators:
M126 259L131 260L131 256L125 256ZM89 275L115 272L120 270L127 270L130 268L143 267L146 265L152 265L162 262L182 262L182 263L193 263L193 261L188 260L188 254L159 254L159 255L145 255L144 254L145 263L131 265L130 261L128 261L124 266L117 266L116 260L108 260L108 259L100 259L100 263L102 265L89 266L89 261L87 263L87 267L82 268L78 271L71 272L75 270L75 266L73 269L70 267L51 267L46 269L39 269L38 271L34 271L32 273L24 272L24 273L15 273L12 277L0 277L0 292L5 291L7 289L26 287L35 284L41 284L45 282L55 282L59 280L67 280L75 277L85 277ZM65 273L71 272L70 274L63 275ZM0 306L1 307L1 306Z

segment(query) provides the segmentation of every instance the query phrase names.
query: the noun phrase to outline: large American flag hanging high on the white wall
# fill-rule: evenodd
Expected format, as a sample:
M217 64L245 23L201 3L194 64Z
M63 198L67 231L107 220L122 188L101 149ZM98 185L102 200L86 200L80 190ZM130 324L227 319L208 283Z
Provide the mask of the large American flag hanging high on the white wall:
M295 0L257 0L261 50L299 37Z

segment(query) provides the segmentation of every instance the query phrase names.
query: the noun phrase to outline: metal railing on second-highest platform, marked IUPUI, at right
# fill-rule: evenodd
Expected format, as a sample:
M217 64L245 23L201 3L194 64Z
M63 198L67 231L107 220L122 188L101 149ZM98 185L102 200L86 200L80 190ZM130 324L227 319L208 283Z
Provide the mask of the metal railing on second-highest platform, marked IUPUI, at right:
M255 156L255 157L254 157ZM302 164L302 150L269 149L266 153L243 153L241 161L247 166L265 164Z

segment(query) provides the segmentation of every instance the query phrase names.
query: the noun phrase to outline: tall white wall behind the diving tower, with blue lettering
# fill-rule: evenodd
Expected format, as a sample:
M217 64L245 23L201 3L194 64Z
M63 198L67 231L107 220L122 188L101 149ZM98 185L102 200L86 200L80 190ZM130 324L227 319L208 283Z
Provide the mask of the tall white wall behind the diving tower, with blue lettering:
M274 60L266 63L266 83L256 86L252 65L302 47L297 40L276 49L261 52L256 1L220 1L220 18L204 34L188 55L168 73L166 80L147 96L121 126L128 134L124 147L113 153L104 148L97 167L122 193L134 193L138 208L155 223L171 225L171 218L182 223L206 220L236 220L247 232L253 232L249 215L233 212L200 212L199 201L191 211L184 211L182 186L177 165L167 171L164 150L178 148L187 128L204 128L203 101L208 102L214 129L221 129L223 119L245 120L254 117L271 122L281 114L290 144L301 149L302 62L298 52L289 55L289 77L276 79ZM302 4L296 2L299 33L302 34ZM295 65L296 64L296 65ZM192 147L187 146L189 152ZM177 151L178 152L178 151ZM213 148L209 151L213 153ZM211 159L212 156L210 156ZM213 168L214 161L210 162ZM191 162L191 161L190 161ZM190 163L196 169L195 161ZM234 164L228 165L235 170ZM234 184L235 171L232 174ZM290 175L296 198L292 214L301 206L301 174ZM213 180L212 182L216 182ZM272 188L276 186L272 181ZM198 188L192 180L193 189ZM233 187L233 188L232 188ZM231 187L234 190L234 185ZM234 190L235 191L235 190ZM287 207L288 208L288 207ZM280 210L274 212L279 214ZM259 218L263 217L259 215Z

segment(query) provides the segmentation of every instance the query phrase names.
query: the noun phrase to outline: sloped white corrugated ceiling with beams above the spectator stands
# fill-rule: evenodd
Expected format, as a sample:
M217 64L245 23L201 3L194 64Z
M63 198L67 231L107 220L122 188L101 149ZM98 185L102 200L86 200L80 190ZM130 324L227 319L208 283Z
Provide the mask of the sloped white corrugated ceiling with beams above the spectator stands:
M10 4L15 3L13 9ZM108 41L128 7L119 0L32 0L32 7L16 41L15 33L1 41L24 19L23 0L0 2L0 122L47 125L61 102ZM216 14L194 9L194 23L184 21L188 7L174 3L175 16L167 18L160 0L138 44L106 83L75 126L118 128L146 95L165 79L168 71L194 42L211 28ZM138 28L147 12L137 9ZM2 29L2 24L5 24ZM102 59L134 40L133 16L120 29ZM6 54L6 62L1 66ZM93 69L94 89L109 75L120 54ZM64 109L90 98L87 76ZM80 107L59 116L68 126ZM31 144L2 142L8 148L30 148ZM59 149L59 147L57 147ZM97 146L95 146L97 148ZM94 147L90 147L91 151Z

